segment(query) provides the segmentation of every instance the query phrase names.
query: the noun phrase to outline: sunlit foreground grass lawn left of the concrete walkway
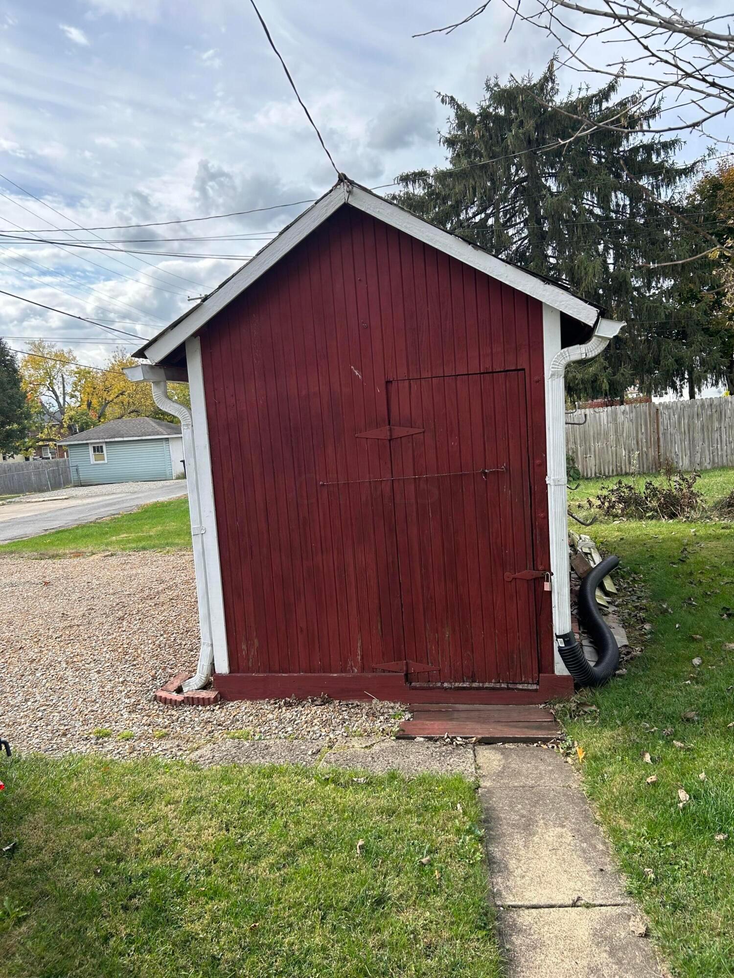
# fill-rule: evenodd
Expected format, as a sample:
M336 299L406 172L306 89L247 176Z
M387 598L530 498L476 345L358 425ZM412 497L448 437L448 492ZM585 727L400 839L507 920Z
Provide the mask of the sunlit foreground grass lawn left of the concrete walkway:
M499 974L463 778L78 756L0 777L4 978Z

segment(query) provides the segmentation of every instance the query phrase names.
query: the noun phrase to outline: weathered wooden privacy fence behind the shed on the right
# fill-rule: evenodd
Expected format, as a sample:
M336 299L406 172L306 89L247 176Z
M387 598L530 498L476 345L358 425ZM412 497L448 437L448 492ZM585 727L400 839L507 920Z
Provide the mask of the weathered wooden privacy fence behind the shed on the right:
M584 476L656 472L666 459L684 469L734 466L734 397L590 408L567 422Z

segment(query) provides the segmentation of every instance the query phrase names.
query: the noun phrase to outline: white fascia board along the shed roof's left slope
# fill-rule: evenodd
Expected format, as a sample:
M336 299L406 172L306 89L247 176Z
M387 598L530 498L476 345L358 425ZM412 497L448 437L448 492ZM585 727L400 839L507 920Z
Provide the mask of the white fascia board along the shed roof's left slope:
M326 197L304 211L281 235L273 239L270 244L266 244L229 282L225 282L220 289L212 292L204 302L192 309L177 326L174 326L167 333L162 333L148 346L143 347L148 359L153 363L158 363L169 353L172 353L189 336L200 330L212 316L215 316L233 299L237 298L241 292L252 286L253 282L256 282L269 268L272 268L276 262L285 257L289 251L300 244L312 231L315 231L343 204L343 185L337 184ZM131 370L134 369L131 368Z

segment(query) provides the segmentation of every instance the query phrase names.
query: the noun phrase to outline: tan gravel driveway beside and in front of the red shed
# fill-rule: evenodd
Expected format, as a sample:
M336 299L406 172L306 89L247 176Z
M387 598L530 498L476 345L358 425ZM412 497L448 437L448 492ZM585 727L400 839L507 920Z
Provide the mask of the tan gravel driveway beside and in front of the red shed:
M399 707L377 701L161 706L156 689L198 650L188 552L0 557L0 735L19 752L185 757L232 733L318 748L396 726Z

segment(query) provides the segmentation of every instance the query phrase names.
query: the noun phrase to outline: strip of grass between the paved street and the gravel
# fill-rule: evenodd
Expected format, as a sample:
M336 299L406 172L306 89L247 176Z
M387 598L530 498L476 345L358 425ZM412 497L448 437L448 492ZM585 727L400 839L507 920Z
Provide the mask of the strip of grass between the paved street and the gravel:
M69 556L181 547L191 547L189 502L185 496L165 503L151 503L134 512L95 523L4 544L0 554Z

